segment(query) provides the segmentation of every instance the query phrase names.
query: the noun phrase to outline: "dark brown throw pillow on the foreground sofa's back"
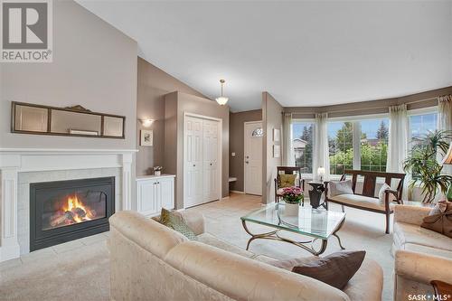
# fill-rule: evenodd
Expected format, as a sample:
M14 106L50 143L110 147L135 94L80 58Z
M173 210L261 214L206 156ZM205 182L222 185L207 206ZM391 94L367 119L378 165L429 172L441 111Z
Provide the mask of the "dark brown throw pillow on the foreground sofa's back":
M301 266L292 268L292 272L312 277L326 284L343 289L363 263L366 252L342 251L314 258Z

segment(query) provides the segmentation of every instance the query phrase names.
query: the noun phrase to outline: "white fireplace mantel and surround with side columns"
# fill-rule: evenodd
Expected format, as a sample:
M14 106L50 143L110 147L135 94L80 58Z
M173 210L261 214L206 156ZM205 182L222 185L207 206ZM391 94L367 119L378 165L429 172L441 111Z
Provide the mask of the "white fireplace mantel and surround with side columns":
M21 254L17 222L19 174L119 168L121 202L116 204L116 211L132 210L131 172L135 152L135 149L0 148L0 262L19 258Z

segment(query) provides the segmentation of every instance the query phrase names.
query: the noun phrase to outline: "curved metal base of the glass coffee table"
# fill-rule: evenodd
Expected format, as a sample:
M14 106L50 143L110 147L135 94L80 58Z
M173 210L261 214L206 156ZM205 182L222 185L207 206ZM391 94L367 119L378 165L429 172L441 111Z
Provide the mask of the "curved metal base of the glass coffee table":
M341 249L345 249L345 248L342 245L341 239L337 235L337 231L341 230L342 226L344 225L344 221L345 221L345 219L337 226L337 229L334 230L334 232L332 234L335 236L335 238L339 242L339 247L341 247ZM258 239L260 239L260 240L279 240L279 241L286 241L288 243L296 245L297 247L306 249L306 251L310 252L311 254L318 256L325 252L326 245L328 244L327 239L326 240L325 239L314 239L314 240L306 240L306 241L290 240L290 239L287 239L285 237L278 235L278 232L280 230L272 230L272 231L265 232L265 233L254 234L254 233L251 233L250 230L248 229L246 221L242 220L241 224L243 225L243 229L245 229L247 231L247 233L251 235L251 238L250 238L250 240L248 240L248 243L247 243L247 250L250 249L250 243L253 240L258 240ZM315 250L313 247L315 240L322 240L322 245L320 246L320 249L318 249L318 250Z

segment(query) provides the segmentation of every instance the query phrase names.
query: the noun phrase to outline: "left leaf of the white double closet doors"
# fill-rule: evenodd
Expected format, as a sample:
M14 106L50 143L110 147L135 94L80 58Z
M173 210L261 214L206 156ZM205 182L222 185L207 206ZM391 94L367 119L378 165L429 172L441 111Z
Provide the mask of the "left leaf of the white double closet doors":
M202 119L184 118L184 207L203 202Z

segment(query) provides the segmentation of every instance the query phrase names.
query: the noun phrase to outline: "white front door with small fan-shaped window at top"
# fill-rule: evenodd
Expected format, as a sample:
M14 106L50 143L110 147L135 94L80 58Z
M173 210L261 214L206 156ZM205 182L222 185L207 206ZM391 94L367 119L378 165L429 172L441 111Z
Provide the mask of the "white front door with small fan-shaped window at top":
M262 122L246 122L244 128L244 190L262 195Z

